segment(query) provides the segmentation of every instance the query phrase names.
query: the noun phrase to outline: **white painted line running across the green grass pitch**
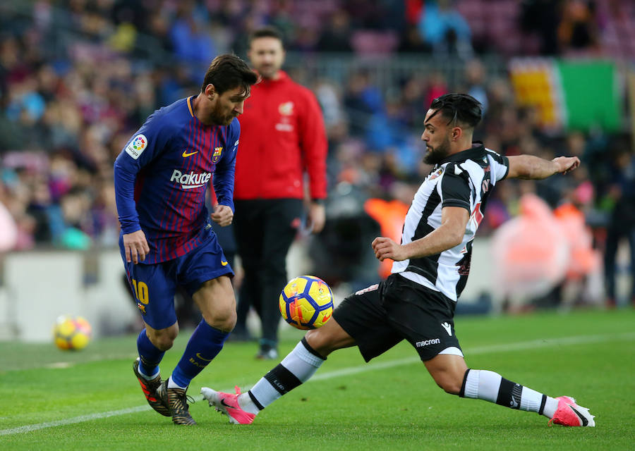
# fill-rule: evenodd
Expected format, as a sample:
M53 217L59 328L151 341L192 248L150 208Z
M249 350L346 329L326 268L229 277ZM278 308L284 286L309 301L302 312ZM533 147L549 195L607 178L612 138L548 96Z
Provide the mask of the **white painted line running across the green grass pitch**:
M609 335L578 335L574 337L553 338L550 340L548 339L531 340L531 341L518 342L518 343L508 343L505 345L479 346L479 347L473 347L473 348L466 348L465 354L469 356L474 354L488 354L489 352L511 352L511 351L519 351L519 350L536 349L538 347L582 345L584 343L599 343L599 342L621 341L621 340L635 340L635 332L625 332L625 333L617 333L617 334L609 334ZM387 369L387 368L392 368L394 366L407 365L407 364L412 364L416 362L421 362L421 360L418 357L406 357L404 359L389 360L387 362L376 362L376 363L370 363L370 364L365 364L360 366L351 366L349 368L337 369L334 371L328 371L325 373L316 374L310 380L323 381L325 379L337 378L339 376L348 376L350 374L364 373L365 371ZM248 388L244 388L244 390L248 390ZM229 389L224 389L224 391L229 391ZM202 399L203 399L202 396L198 396L195 398L195 400L197 401L200 401ZM47 423L28 424L26 426L19 426L17 428L1 429L0 435L11 435L11 434L38 431L39 429L44 429L44 428L53 428L56 426L66 426L67 424L83 423L84 421L108 418L109 416L133 414L136 412L144 412L150 409L152 409L152 407L150 407L148 404L145 404L143 406L138 406L138 407L129 407L128 409L119 409L119 410L111 410L109 412L80 415L80 416L75 416L73 418L68 418L64 420L49 421Z

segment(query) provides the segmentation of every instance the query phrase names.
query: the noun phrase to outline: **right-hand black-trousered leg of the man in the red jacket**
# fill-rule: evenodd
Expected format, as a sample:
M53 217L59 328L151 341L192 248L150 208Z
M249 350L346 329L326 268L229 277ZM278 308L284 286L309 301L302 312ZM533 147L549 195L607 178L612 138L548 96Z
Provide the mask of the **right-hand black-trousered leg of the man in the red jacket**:
M301 199L273 199L270 208L263 214L262 228L265 240L262 243L262 338L256 357L260 359L278 358L278 326L280 311L278 298L286 285L286 254L294 242L300 215Z

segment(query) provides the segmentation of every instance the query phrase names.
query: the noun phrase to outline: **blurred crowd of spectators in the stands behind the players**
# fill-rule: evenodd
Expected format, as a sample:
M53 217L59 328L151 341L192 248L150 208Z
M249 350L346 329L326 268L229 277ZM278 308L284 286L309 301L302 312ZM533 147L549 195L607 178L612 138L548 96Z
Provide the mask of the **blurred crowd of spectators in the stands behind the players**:
M481 235L518 214L526 193L581 211L600 251L607 230L632 221L622 217L635 206L626 105L623 132L545 130L535 109L516 101L507 61L557 55L632 64L635 2L38 0L0 5L0 208L16 226L14 249L116 246L116 155L152 111L199 91L214 56L244 57L248 33L267 24L284 33L286 69L324 112L329 223L313 255L319 263L344 250L332 277L372 276L355 262L370 249L368 236L387 226L373 218L407 207L430 171L419 137L430 101L446 92L482 102L476 138L486 147L583 162L567 177L501 184ZM337 75L308 70L305 62L316 59L337 66ZM378 77L392 61L410 61L412 70ZM368 199L385 202L380 213ZM635 245L632 228L619 233Z

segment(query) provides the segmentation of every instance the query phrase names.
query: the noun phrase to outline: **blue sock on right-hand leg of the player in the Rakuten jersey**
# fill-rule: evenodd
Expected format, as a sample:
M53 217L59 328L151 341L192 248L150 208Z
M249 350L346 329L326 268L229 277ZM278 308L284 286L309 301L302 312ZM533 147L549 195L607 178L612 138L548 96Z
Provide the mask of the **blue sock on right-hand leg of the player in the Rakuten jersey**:
M212 362L223 349L227 335L229 332L213 328L202 319L190 337L179 364L172 371L172 381L183 388L190 385L194 376Z

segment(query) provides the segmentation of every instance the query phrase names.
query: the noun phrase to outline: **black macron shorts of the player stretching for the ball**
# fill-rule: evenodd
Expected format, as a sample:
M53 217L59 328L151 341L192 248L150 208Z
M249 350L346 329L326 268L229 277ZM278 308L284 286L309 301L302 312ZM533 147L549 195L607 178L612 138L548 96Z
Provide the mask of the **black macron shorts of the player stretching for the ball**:
M404 339L425 361L449 347L460 352L454 333L455 305L440 292L392 274L379 285L346 297L333 318L355 339L366 362Z

